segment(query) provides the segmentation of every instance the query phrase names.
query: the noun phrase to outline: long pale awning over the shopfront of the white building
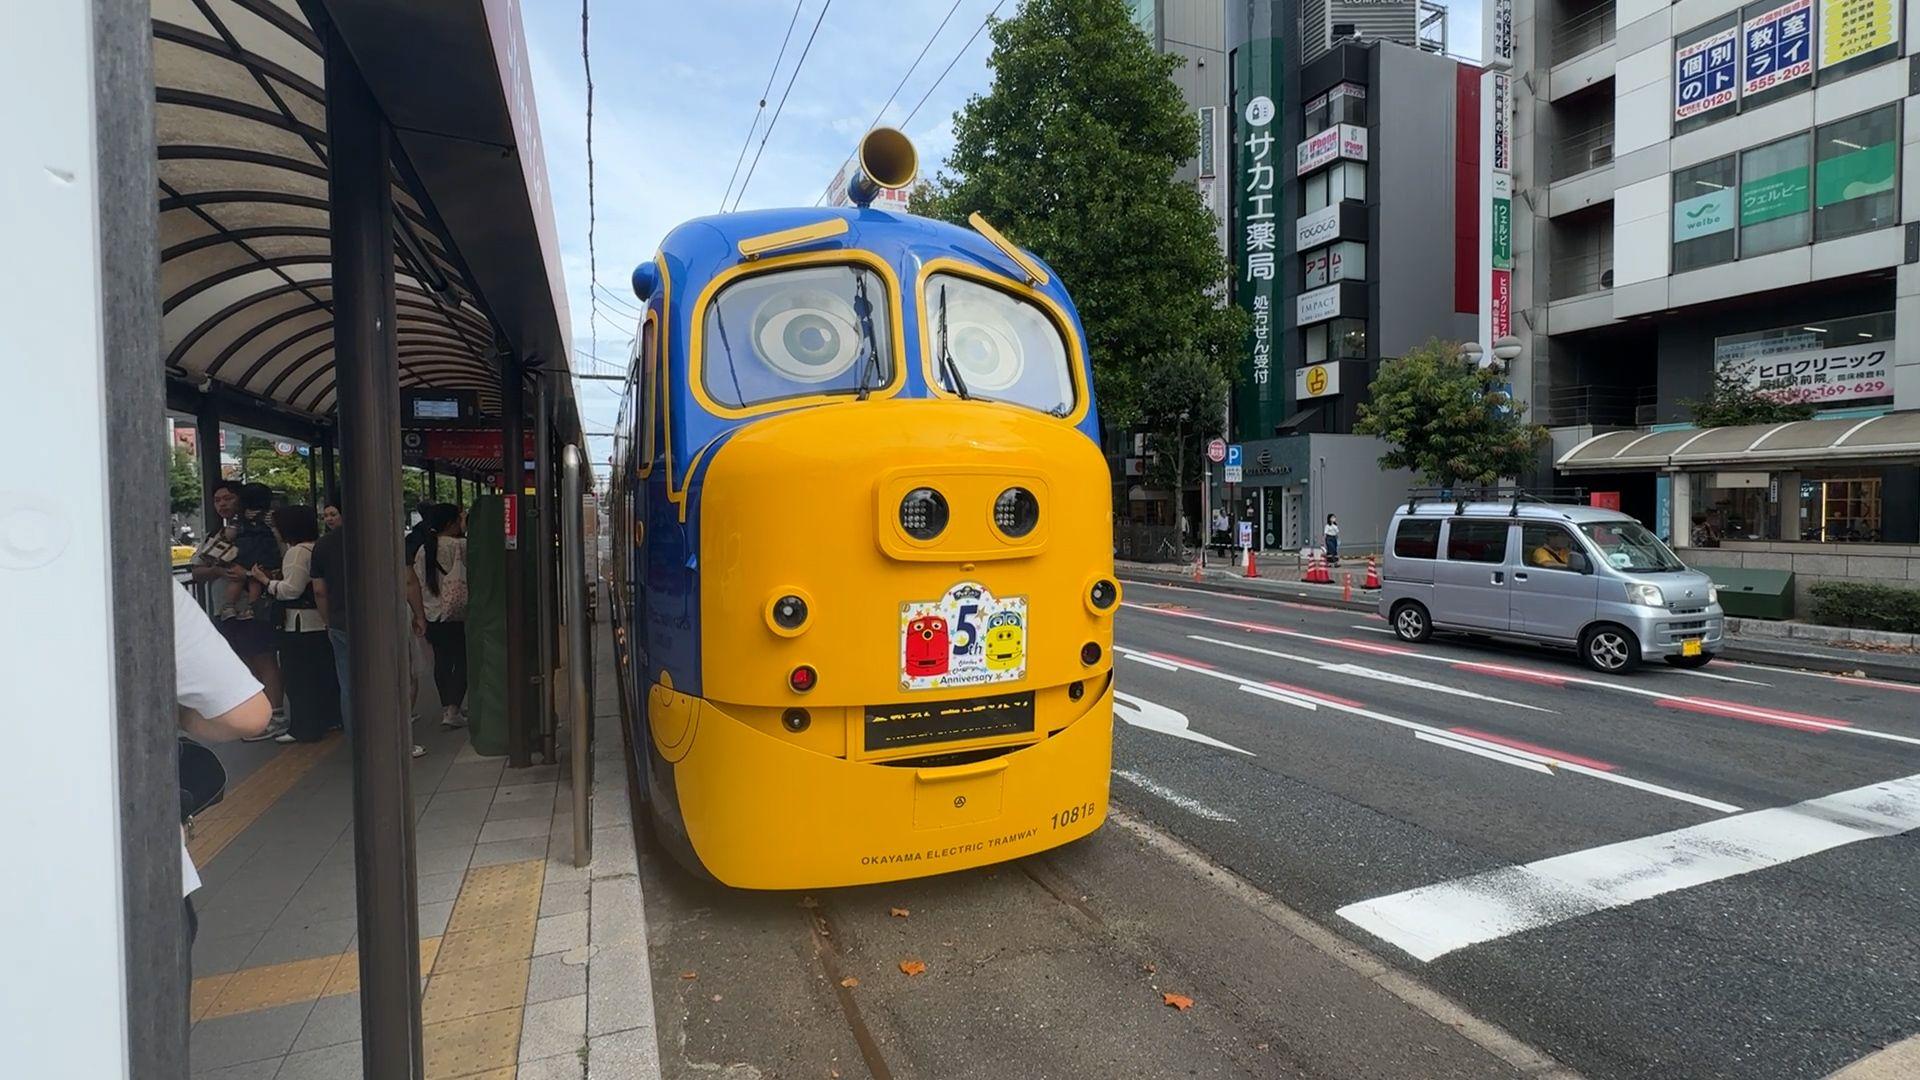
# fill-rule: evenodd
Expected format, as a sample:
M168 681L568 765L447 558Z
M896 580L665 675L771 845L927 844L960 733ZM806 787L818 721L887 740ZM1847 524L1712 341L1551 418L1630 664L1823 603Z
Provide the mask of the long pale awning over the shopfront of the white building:
M1849 417L1657 432L1609 430L1574 446L1553 465L1567 473L1617 473L1910 457L1920 457L1920 411L1884 413L1864 421Z

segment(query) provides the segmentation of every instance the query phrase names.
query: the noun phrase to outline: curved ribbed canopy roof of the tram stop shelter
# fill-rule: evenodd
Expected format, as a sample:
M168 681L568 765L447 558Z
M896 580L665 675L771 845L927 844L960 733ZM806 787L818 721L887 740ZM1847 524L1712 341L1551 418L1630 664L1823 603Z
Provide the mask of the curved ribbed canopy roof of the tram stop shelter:
M300 0L154 0L152 8L167 373L324 417L334 409L334 311L323 38ZM315 8L326 10L340 33L349 35L355 4ZM444 23L444 35L451 27L465 40L467 56L444 60L478 65L493 83L492 100L472 102L472 111L488 113L492 104L492 111L507 117L511 94L501 79L509 71L497 60L503 40L524 52L516 10L505 6L511 25L499 25L501 19L490 21L488 12L499 4L470 0L424 8L430 10L426 19ZM355 46L351 37L348 44ZM357 48L353 52L359 56ZM411 79L396 79L392 71L367 71L367 79L396 129L394 115L409 98L440 92L430 63L419 65ZM515 129L513 123L505 127ZM461 142L457 135L442 142ZM486 138L488 152L499 158L497 131ZM526 267L515 269L518 279L495 273L495 290L513 296L490 296L476 282L461 236L440 217L405 136L396 135L394 146L401 388L472 390L482 409L497 411L495 340L522 357L538 356L549 367L566 369L559 261L540 258L543 236L536 221L520 240L532 250L534 267L545 273L524 275ZM468 181L470 190L459 198L499 208L518 204L532 219L543 213L551 234L538 129L518 146L532 150L538 184L482 175ZM513 135L505 150L513 156ZM524 181L522 169L515 167L509 179ZM538 192L528 190L534 186ZM486 236L484 244L501 240L513 236ZM522 315L518 325L505 325L495 315L503 302ZM534 327L524 315L541 306L538 321L545 325ZM564 394L570 402L570 388Z

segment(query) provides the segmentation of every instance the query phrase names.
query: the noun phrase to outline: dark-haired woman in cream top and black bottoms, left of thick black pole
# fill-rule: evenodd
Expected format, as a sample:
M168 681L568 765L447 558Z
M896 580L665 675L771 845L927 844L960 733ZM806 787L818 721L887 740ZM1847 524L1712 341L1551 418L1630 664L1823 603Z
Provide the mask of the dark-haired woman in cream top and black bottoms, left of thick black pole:
M311 505L282 505L273 511L273 530L286 544L280 577L253 567L252 578L275 600L275 636L286 680L286 730L275 742L319 742L340 726L340 680L334 650L326 642L326 619L313 603L313 542L319 519Z

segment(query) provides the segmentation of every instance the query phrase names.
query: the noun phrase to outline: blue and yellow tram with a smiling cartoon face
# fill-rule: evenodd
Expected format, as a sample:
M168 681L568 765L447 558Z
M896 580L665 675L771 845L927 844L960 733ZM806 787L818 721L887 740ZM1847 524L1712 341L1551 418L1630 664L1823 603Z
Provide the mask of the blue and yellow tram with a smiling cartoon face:
M737 888L1029 855L1106 819L1114 582L1087 340L981 219L689 221L634 271L616 642L662 844Z

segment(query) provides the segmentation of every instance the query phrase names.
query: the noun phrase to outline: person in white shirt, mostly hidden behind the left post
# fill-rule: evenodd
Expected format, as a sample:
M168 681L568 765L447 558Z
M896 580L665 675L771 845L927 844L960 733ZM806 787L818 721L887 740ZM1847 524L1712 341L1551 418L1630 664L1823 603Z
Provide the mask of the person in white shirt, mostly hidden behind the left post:
M227 638L188 596L173 588L173 696L180 707L180 730L200 742L232 742L267 730L273 705L253 673L234 655ZM180 909L186 919L188 945L194 940L194 890L200 872L186 853L186 830L180 830ZM188 972L192 978L192 972Z

